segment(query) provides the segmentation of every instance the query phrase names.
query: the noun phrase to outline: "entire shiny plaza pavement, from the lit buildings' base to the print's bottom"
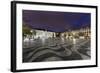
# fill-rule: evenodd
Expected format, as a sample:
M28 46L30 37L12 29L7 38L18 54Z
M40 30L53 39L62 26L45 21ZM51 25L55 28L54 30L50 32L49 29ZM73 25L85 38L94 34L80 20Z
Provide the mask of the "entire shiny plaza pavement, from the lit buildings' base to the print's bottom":
M86 60L90 48L89 39L35 39L23 43L23 62Z

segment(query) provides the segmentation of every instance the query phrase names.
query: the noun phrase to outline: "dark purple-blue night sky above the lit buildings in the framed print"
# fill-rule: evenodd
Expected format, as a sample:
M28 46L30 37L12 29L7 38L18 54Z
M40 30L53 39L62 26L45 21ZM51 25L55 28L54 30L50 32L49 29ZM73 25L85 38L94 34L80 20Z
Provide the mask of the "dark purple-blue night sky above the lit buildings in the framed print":
M23 23L33 29L65 32L89 27L90 13L23 10Z

